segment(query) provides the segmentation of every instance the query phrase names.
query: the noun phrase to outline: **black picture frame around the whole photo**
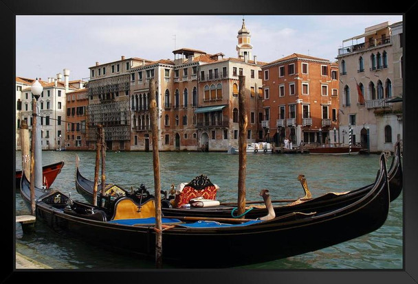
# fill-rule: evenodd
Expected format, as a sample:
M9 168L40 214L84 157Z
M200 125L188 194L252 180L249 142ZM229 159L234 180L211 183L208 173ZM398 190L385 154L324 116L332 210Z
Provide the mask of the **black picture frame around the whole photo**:
M3 233L3 253L5 264L1 269L1 283L121 283L122 281L151 283L418 283L418 189L415 189L414 172L417 165L417 146L415 145L418 130L415 90L412 88L415 80L414 69L417 56L413 49L415 24L417 22L417 3L414 1L397 1L383 3L370 0L342 1L51 1L51 0L1 0L0 21L3 27L2 54L7 64L3 64L2 97L8 100L8 106L3 108L3 130L11 134L10 139L1 140L1 150L8 153L5 169L8 182L3 187L6 198L3 212L7 218L2 218L2 226L13 228L14 224L14 193L12 184L14 178L14 137L15 137L15 106L14 86L15 70L15 27L17 15L31 14L402 14L404 15L404 268L401 270L148 270L98 272L86 270L56 270L56 271L17 271L14 270L14 239L15 232L10 235ZM31 31L28 31L31 32ZM30 43L28 43L30 44ZM410 48L409 48L410 47ZM14 55L14 56L12 56ZM10 163L11 161L11 163ZM10 164L13 167L10 167ZM6 222L7 220L7 222Z

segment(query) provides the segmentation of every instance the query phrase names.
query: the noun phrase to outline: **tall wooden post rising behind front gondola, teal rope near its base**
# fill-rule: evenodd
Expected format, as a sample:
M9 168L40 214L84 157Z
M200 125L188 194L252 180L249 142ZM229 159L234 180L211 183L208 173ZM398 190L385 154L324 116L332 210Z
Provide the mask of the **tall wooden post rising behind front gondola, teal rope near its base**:
M245 176L247 171L247 107L245 104L245 76L239 75L239 171L238 171L238 215L245 212Z

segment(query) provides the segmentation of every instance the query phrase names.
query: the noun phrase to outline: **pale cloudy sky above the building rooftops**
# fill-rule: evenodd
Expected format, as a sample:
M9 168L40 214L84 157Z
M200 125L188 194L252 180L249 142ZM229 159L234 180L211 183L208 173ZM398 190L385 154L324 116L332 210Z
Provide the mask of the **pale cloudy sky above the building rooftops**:
M236 58L236 36L243 19L259 62L294 53L336 61L343 40L372 25L402 21L402 16L18 15L16 75L47 80L69 69L69 80L88 80L89 67L96 62L113 62L121 56L173 60L173 50L181 48Z

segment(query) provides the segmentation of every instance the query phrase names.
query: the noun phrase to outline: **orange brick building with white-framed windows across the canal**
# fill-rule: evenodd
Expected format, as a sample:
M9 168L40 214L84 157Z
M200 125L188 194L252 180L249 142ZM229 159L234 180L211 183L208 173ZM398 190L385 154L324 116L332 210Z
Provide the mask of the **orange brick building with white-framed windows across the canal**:
M265 64L263 71L263 128L267 139L294 146L336 143L338 129L338 64L292 54Z

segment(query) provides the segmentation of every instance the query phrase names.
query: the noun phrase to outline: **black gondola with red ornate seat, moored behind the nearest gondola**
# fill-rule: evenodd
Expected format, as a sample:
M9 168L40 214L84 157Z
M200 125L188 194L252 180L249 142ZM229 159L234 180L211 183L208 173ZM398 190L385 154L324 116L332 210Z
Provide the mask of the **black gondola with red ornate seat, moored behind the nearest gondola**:
M198 178L198 177L197 177ZM352 191L347 191L344 193L327 193L325 196L321 196L320 198L310 198L309 189L307 187L307 182L305 180L304 176L299 176L298 179L300 180L301 184L303 185L303 188L305 190L305 196L295 199L295 200L272 200L274 203L274 211L276 215L289 213L295 210L298 210L300 212L309 212L309 211L315 211L318 208L328 208L331 209L333 206L341 206L342 204L347 204L349 202L353 202L353 200L358 200L359 198L362 198L368 191L371 190L373 187L373 184L366 185L364 187L361 187L359 189L353 189ZM390 196L391 201L395 200L401 193L402 189L402 167L401 167L401 153L400 153L400 147L399 143L395 145L394 150L394 156L391 163L391 168L388 171L388 182L390 185ZM202 181L198 182L189 182L189 187L192 187L192 189L195 189L194 184L195 183L203 183ZM88 180L84 176L80 174L80 171L78 169L78 166L76 167L76 189L78 193L82 194L86 197L88 202L92 202L92 196L93 196L93 185L94 182L91 180ZM210 186L210 184L208 184ZM192 190L191 189L191 190ZM195 189L196 190L196 189ZM197 189L201 190L201 189ZM128 192L124 190L125 192ZM200 196L203 196L203 191L199 193ZM175 200L175 194L174 198L167 200L165 198L162 200L162 212L165 215L171 215L171 216L210 216L210 217L236 217L236 204L234 203L222 203L219 202L219 205L217 206L208 206L208 207L195 207L192 206L193 202L189 202L192 198L199 197L199 194L195 194L194 196L188 196L188 198L182 197L181 200L187 200L186 202L181 202L179 204L175 204L173 201ZM208 194L208 193L206 193ZM184 196L186 196L186 193L183 193ZM100 198L100 197L99 197ZM210 196L210 198L214 199L213 196ZM208 199L208 196L205 196L205 199ZM183 205L185 203L190 204L190 207L185 208ZM266 209L264 206L258 206L256 205L260 202L247 202L247 206L245 209L245 217L248 218L254 218L254 217L260 217L262 215L266 214Z

